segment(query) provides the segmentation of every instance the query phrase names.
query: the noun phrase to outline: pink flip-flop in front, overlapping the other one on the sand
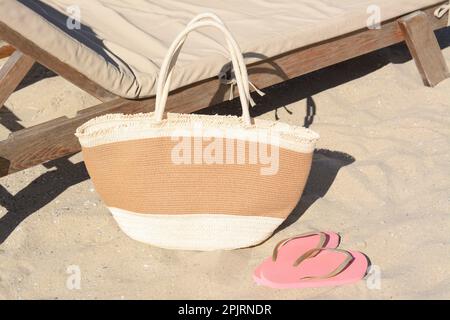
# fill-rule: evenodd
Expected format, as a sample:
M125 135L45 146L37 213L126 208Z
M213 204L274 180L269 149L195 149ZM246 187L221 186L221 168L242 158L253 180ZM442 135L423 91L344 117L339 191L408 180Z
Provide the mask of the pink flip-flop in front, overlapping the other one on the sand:
M277 289L340 286L363 279L368 266L367 257L357 251L312 249L292 264L262 270L261 278Z

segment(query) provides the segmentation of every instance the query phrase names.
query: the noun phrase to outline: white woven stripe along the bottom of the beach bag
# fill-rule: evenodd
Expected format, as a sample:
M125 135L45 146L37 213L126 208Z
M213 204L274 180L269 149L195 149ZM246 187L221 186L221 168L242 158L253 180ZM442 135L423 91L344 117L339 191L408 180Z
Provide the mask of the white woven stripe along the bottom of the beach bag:
M280 218L226 214L137 214L109 208L130 238L166 249L231 250L261 243L283 222Z

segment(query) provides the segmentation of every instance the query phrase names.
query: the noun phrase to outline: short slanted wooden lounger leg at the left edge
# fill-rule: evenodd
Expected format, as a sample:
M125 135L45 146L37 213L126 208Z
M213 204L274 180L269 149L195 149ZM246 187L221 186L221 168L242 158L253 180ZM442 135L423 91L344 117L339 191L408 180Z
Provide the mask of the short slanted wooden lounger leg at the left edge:
M15 51L0 69L0 108L30 71L34 59Z

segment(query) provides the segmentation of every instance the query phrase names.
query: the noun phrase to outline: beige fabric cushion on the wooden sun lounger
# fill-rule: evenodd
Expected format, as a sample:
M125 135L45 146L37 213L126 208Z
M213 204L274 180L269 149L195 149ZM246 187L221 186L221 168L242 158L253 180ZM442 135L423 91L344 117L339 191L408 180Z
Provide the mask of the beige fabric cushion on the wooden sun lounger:
M442 0L377 0L389 20ZM214 12L255 61L346 34L367 25L373 0L0 0L0 21L105 89L148 97L175 36L196 14ZM81 30L66 27L78 5ZM190 36L172 89L217 76L228 62L222 39L205 29Z

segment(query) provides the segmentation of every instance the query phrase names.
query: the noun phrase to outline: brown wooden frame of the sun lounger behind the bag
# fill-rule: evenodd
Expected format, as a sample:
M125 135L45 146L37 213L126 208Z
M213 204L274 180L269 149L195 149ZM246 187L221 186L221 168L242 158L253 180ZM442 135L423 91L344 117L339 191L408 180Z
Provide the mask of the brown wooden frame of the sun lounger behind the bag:
M435 86L449 77L448 67L433 32L446 26L447 17L437 19L433 15L445 3L448 1L386 21L379 30L362 29L252 64L249 66L250 79L258 87L264 88L284 81L285 77L298 77L406 41L424 84ZM0 69L0 107L34 62L39 62L103 101L78 112L74 118L62 117L11 133L8 139L0 142L0 177L80 151L74 136L75 129L93 117L113 112L149 112L153 109L153 98L127 100L117 97L55 58L45 48L36 46L32 39L22 37L1 22L0 39L16 49L14 52L9 50L12 55ZM276 72L264 72L273 70L274 65L283 72L284 78ZM222 102L227 94L215 95L219 87L219 80L212 78L178 89L169 97L168 111L189 113Z

